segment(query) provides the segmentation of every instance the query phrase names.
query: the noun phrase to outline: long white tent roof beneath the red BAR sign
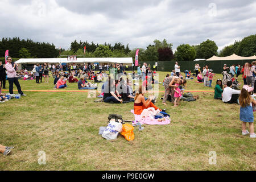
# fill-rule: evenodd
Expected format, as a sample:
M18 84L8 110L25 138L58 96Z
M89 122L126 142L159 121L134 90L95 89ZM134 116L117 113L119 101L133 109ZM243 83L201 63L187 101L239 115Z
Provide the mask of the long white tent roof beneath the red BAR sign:
M31 58L19 59L18 64L36 64L36 63L122 63L133 64L133 57L85 57L77 58L76 61L68 61L64 58Z

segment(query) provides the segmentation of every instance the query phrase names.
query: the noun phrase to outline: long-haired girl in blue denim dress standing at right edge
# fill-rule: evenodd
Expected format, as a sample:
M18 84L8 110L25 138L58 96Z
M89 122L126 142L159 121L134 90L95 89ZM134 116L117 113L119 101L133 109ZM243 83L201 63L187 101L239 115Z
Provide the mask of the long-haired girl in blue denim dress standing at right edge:
M249 92L245 87L241 90L239 97L240 103L240 120L242 121L242 135L250 134L250 138L256 138L254 133L254 116L253 116L253 106L252 103L256 105L256 101L251 98ZM246 123L249 123L250 133L246 129Z

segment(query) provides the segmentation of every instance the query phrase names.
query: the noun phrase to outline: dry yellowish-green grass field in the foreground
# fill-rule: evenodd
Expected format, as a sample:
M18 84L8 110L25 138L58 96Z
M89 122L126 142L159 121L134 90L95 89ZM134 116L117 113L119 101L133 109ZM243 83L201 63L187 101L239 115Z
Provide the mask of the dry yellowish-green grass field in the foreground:
M167 72L159 73L162 82ZM188 80L187 90L214 90L217 78L222 75L214 76L213 88ZM52 78L49 82L20 84L23 90L53 90ZM67 90L77 90L77 84ZM179 107L168 101L163 106L159 97L156 105L166 107L171 124L135 127L131 142L122 136L107 141L98 130L112 113L133 119L133 103L94 103L86 92L24 93L27 97L0 105L0 144L15 146L11 155L0 155L0 170L256 169L256 140L241 135L240 106L214 100L214 93L193 93L199 100ZM39 151L46 152L46 165L38 164ZM209 164L210 151L216 151L216 165Z

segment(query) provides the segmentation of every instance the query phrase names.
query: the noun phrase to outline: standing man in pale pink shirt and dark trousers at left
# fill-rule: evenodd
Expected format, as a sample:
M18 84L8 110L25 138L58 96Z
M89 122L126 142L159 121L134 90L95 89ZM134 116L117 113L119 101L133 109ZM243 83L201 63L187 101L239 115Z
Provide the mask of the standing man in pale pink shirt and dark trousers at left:
M18 67L18 64L13 63L13 60L11 59L11 57L7 57L7 63L5 65L5 69L7 71L7 77L9 81L9 93L13 94L13 84L15 84L20 96L27 96L22 92L22 89L20 87L18 76L16 73L16 69L18 69L17 67Z

